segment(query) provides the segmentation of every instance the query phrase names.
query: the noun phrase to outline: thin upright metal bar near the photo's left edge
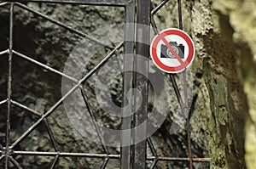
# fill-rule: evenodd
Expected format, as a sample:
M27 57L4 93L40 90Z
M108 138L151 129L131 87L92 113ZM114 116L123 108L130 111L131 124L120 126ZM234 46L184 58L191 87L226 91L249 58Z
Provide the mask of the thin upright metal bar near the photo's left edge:
M7 87L7 120L6 120L6 137L5 137L5 169L9 168L9 132L10 132L10 109L12 94L12 56L13 56L13 27L14 27L14 3L10 3L9 9L9 74Z

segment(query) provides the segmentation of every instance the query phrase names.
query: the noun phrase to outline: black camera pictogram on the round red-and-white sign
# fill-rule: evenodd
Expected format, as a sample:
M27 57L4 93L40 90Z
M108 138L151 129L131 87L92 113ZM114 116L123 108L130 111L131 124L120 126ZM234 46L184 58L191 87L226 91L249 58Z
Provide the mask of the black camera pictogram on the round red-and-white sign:
M173 50L176 52L176 54L181 58L184 59L184 46L183 44L177 45L177 42L169 42L169 44L172 46ZM171 50L166 47L166 45L161 45L161 58L170 58L170 59L176 59L174 54L172 54Z

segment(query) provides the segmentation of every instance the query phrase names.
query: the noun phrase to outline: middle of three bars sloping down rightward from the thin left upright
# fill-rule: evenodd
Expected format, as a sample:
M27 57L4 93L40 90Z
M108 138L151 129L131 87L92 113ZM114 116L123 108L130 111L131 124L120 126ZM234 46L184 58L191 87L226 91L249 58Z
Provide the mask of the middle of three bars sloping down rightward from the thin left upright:
M29 57L29 56L26 56L25 54L20 54L19 52L16 52L15 50L13 50L13 53L16 54L16 55L18 55L18 56L20 56L20 57L23 58L23 59L26 59L26 60L32 62L32 63L35 64L35 65L39 65L39 66L43 67L45 70L49 70L49 71L51 71L51 72L53 72L53 73L55 73L55 74L57 74L57 75L59 75L59 76L63 76L63 77L65 77L65 78L67 78L68 80L72 81L72 82L79 82L77 79L73 78L72 76L68 76L68 75L62 73L62 72L59 71L59 70L55 70L55 69L49 67L48 65L44 65L44 64L42 64L41 62L38 62L37 60L32 59L32 58Z

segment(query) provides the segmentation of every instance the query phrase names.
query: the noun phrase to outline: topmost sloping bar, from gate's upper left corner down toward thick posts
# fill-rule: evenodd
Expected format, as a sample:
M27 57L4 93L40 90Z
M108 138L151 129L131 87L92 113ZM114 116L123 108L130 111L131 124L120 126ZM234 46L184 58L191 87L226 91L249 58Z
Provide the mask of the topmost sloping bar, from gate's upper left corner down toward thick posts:
M32 14L37 14L38 16L44 18L44 20L48 20L49 22L55 24L55 25L59 25L61 26L62 28L64 29L67 29L68 31L71 31L77 35L79 35L80 37L84 37L84 38L87 38L89 39L91 42L96 42L96 44L99 44L99 45L102 45L104 48L108 48L110 50L113 50L113 47L110 47L108 46L108 44L104 44L100 41L98 41L97 39L95 39L94 37L90 37L89 35L85 34L84 32L82 31L78 31L76 29L73 29L71 26L69 25L65 25L63 23L61 23L60 21L58 20L54 20L52 18L50 18L49 16L47 16L46 14L42 14L36 10L34 10L33 8L29 8L27 7L26 5L22 4L22 3L15 3L17 6L19 6L20 8L23 8L23 9L26 9L27 11L31 12Z

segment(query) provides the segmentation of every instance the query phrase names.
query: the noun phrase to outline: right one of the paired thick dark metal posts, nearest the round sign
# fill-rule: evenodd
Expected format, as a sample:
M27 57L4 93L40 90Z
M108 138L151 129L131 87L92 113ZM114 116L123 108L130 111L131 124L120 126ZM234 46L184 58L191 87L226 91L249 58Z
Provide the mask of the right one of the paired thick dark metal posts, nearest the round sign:
M142 99L142 104L139 105L139 109L134 115L135 127L141 125L148 117L148 59L142 57L149 57L149 38L150 38L150 1L149 0L137 0L137 43L136 43L136 82L135 86L140 96L136 96L137 99ZM138 72L142 72L143 75ZM141 97L141 98L139 98ZM145 138L142 142L134 144L132 168L143 169L146 168L147 159L147 126L143 130L133 133L133 139Z

